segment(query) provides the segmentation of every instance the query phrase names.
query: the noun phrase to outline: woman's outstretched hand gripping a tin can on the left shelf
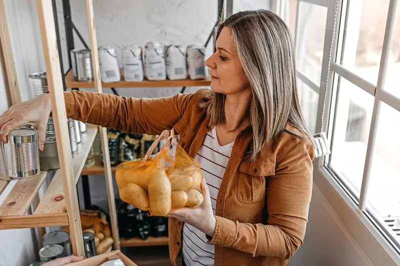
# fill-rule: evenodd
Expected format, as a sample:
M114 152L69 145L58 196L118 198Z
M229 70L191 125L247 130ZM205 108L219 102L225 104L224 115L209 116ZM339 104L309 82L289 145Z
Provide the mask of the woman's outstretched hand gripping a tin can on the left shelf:
M11 106L0 116L0 141L2 143L7 142L10 130L25 124L32 124L38 131L39 149L43 150L47 120L50 112L51 101L48 93Z

